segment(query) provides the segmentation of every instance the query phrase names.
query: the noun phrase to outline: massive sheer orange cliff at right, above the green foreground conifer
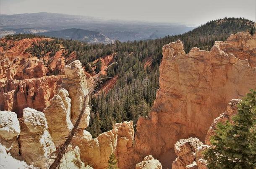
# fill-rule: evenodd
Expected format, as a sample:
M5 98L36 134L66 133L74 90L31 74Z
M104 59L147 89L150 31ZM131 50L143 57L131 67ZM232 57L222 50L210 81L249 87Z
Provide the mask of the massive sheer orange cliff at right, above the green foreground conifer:
M255 58L254 38L238 33L216 42L210 51L192 48L188 54L180 40L163 47L154 106L147 118L137 122L136 162L149 154L162 164L173 161L174 156L167 154L172 154L176 141L189 137L204 140L213 119L225 111L227 103L256 86L256 68L243 61L243 53L249 50L246 58ZM230 46L242 54L233 54Z

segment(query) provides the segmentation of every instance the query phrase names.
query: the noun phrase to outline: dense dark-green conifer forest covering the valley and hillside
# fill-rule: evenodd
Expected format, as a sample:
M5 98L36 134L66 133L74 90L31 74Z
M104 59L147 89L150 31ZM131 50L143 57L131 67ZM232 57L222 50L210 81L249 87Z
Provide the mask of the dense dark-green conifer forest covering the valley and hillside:
M87 44L74 40L53 39L34 44L26 51L41 57L46 53L54 55L59 49L64 49L65 58L71 53L76 53L76 58L81 61L85 71L93 74L92 67L100 70L101 62L94 62L105 55L115 53L113 62L117 64L107 70L107 77L117 77L114 88L107 94L101 90L102 84L96 89L96 94L91 98L91 120L87 130L92 136L112 129L112 124L121 121L136 121L139 116L146 116L151 108L157 88L159 86L159 64L162 58L162 46L180 39L186 53L196 46L209 50L214 41L226 40L230 34L248 30L255 32L254 22L243 18L224 18L208 22L200 27L182 35L167 36L156 40L144 40L114 44ZM39 35L13 35L6 39L20 40L23 38L39 37ZM1 44L5 46L5 44ZM70 62L70 61L69 61ZM69 62L66 62L68 64ZM59 72L54 72L55 74ZM103 79L103 84L113 79Z

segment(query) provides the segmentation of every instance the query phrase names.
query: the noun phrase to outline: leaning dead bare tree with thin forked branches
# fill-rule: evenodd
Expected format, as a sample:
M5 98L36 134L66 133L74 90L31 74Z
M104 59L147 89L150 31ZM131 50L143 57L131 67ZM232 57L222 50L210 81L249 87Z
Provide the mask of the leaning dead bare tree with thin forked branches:
M89 63L88 63L89 64ZM113 64L116 64L116 63L112 63L110 64L109 66L107 66L106 68L104 68L103 71L107 70L107 68L109 68L110 66L112 66ZM91 66L89 64L89 66ZM93 71L94 69L91 68ZM95 71L94 71L95 73ZM96 74L96 73L95 73ZM84 96L84 103L83 103L83 106L82 106L82 109L81 109L81 112L76 120L76 124L74 125L73 129L71 130L71 133L68 135L66 141L64 142L64 144L62 144L60 146L60 148L58 149L58 153L57 153L57 156L55 158L55 160L53 161L53 163L50 165L49 169L57 169L58 166L60 165L60 161L63 157L63 155L65 154L65 152L67 151L67 148L68 148L68 145L71 144L71 141L73 139L73 136L76 134L76 131L78 130L78 126L80 124L80 121L81 121L81 118L82 116L84 115L84 111L85 111L85 108L86 108L86 99L91 95L91 93L94 91L94 87L97 85L97 83L101 80L99 78L99 76L102 74L102 71L100 71L99 73L97 73L94 78L94 81L93 81L93 85L91 86L91 89L89 90L89 92L86 94L86 96Z

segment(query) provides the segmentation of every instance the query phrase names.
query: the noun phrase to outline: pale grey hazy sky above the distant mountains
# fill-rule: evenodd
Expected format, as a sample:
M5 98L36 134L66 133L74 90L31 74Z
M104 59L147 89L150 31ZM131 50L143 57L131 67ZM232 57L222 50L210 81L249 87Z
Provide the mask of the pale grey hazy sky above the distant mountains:
M200 25L217 18L255 21L255 0L0 0L0 14L64 13Z

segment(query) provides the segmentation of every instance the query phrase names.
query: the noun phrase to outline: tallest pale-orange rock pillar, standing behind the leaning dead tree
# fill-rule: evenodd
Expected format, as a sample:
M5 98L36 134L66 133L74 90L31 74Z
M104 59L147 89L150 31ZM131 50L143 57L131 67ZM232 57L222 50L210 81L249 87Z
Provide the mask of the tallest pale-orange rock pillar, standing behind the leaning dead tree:
M89 93L86 76L79 60L73 61L71 64L66 65L64 68L66 78L63 79L63 87L68 91L71 98L71 121L73 124L82 110L84 102L86 105L89 103L89 97L84 100L84 97ZM80 128L86 128L90 120L89 106L86 106L84 116L79 124Z

